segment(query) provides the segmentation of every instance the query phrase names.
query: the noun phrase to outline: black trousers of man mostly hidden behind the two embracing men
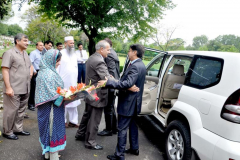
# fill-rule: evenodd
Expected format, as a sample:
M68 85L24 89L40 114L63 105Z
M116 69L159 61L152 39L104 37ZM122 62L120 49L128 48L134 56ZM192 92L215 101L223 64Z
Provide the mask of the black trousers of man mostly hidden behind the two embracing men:
M117 116L115 113L114 103L116 96L114 92L108 92L108 105L104 107L104 116L106 123L106 130L117 131Z

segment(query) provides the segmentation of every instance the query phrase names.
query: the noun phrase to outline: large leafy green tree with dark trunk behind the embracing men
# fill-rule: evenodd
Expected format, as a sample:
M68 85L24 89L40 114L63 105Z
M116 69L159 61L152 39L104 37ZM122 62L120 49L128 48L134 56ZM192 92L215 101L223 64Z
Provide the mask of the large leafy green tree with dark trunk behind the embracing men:
M39 11L59 19L71 28L80 28L89 39L89 53L94 53L95 40L104 29L133 39L149 36L150 23L159 20L163 11L172 8L171 0L31 0Z

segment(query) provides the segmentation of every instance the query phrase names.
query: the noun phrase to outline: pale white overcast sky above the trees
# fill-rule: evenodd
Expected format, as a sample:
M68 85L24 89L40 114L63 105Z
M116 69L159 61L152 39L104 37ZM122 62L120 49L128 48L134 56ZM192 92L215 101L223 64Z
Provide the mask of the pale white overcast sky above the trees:
M192 44L195 36L206 35L214 39L219 35L234 34L240 36L240 0L172 0L176 7L167 10L160 24L166 28L177 27L172 38L182 38L186 44ZM17 23L22 28L20 16L29 8L24 4L21 11L13 5L15 16L9 24Z

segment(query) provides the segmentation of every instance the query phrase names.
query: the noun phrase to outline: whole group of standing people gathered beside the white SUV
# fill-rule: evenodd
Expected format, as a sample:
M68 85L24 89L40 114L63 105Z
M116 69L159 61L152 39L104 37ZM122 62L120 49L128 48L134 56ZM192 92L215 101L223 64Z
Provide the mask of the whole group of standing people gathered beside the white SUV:
M65 37L64 46L46 41L36 44L36 50L28 57L28 37L18 34L15 47L3 54L3 136L17 140L17 135L30 135L23 130L25 105L30 110L38 108L39 141L45 159L59 159L58 152L66 146L66 127L78 128L76 140L84 141L88 149L102 150L96 142L97 135L118 134L118 144L111 160L124 159L124 153L139 154L138 129L135 122L140 113L146 68L142 62L142 45L130 46L129 61L120 77L119 59L109 38L96 44L96 52L88 58L79 43L75 51L72 36ZM30 83L31 82L31 83ZM57 87L68 89L77 83L95 84L106 87L97 90L98 101L86 99L85 111L78 124L76 97L65 99L56 93ZM117 90L116 90L117 89ZM118 96L118 116L115 113L115 97ZM71 102L70 102L70 101ZM105 115L106 128L98 132ZM69 115L69 120L66 115ZM118 117L118 120L117 120ZM69 121L69 123L67 123ZM125 150L129 129L130 148Z

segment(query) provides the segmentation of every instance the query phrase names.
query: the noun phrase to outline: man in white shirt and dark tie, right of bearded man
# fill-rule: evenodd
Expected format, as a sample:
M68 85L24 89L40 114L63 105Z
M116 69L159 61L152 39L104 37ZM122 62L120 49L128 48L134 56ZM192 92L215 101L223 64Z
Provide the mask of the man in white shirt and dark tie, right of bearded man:
M86 50L83 50L82 43L78 43L78 50L76 51L77 60L78 60L78 83L85 83L86 75L86 61L88 55Z

